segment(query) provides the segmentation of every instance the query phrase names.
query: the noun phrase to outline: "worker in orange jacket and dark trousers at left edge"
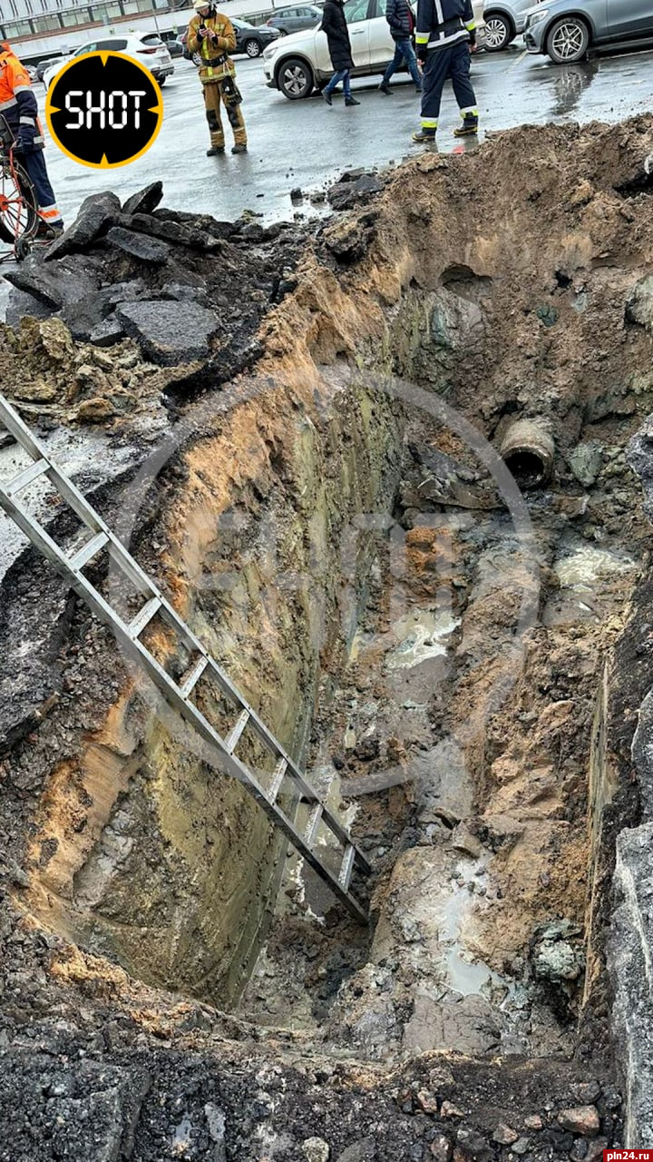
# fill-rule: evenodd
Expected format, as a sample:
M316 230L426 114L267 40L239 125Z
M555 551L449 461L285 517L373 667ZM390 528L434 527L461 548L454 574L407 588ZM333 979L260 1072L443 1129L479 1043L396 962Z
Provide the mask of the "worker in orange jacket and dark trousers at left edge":
M6 41L0 42L0 114L14 135L14 152L20 155L38 201L37 237L53 238L64 223L57 209L43 157L43 129L29 73Z

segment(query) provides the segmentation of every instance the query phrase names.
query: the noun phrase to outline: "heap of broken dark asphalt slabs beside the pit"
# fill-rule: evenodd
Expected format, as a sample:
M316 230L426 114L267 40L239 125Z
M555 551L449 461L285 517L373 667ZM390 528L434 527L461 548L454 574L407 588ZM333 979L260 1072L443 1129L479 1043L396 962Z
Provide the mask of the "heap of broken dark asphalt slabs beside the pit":
M132 350L142 363L171 368L157 381L168 392L217 387L256 363L261 353L257 328L293 289L306 231L290 223L264 228L253 216L218 222L167 210L159 208L162 196L163 186L155 182L124 207L112 193L87 198L62 238L7 272L14 287L7 323L24 328L26 316L56 317L74 340L108 349L89 364L112 371L116 363L119 388L124 386L121 360ZM16 339L3 328L2 338L6 347L27 347L30 325ZM125 346L128 338L135 349ZM94 404L78 418L106 419L134 409L131 385L120 403L101 374L88 372L93 378L100 380L93 399L105 406ZM23 383L22 399L26 392L51 402L56 387L40 378L36 385Z

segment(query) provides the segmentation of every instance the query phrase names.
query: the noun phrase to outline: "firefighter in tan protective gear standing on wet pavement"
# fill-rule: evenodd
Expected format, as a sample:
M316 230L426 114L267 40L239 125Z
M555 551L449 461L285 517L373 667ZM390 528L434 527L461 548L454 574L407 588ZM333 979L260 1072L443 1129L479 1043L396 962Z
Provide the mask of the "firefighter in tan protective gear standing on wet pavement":
M220 116L220 105L224 105L229 123L234 130L232 153L245 153L247 132L241 112L243 98L236 85L236 69L229 57L236 48L236 34L229 16L218 13L207 0L195 0L196 16L188 24L186 45L189 52L199 52L200 80L204 91L204 106L209 123L210 149L207 157L224 153L224 130Z

